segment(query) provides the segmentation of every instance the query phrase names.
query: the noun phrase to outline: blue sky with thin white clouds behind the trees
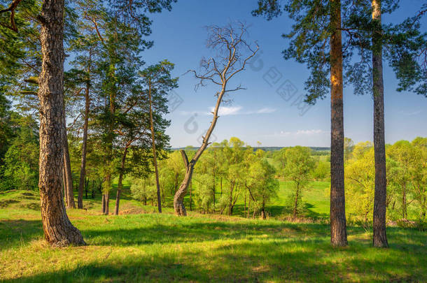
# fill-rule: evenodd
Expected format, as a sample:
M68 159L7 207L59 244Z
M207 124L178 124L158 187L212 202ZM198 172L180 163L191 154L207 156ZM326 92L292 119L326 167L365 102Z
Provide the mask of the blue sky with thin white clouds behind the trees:
M232 103L221 110L212 140L237 136L249 145L262 146L329 146L330 145L330 98L318 101L311 108L300 109L297 99L304 94L307 68L295 61L285 61L281 51L288 42L281 34L290 29L292 22L282 15L272 21L251 16L256 0L179 0L172 12L154 15L154 41L150 50L141 55L146 64L168 59L176 64L174 75L179 76L176 94L182 103L167 117L172 124L167 129L172 147L200 145L200 136L209 126L209 113L215 103L214 86L195 91L197 80L187 74L197 69L200 59L207 56L204 27L223 25L241 20L250 25L249 34L260 45L260 65L248 67L235 78L246 90L232 93ZM404 5L393 15L384 15L384 22L396 22L414 15L421 7L421 0L403 0ZM427 18L422 27L426 31ZM384 64L386 66L386 64ZM274 79L273 79L274 78ZM280 79L280 80L279 80ZM293 90L292 99L285 101L276 92L286 84ZM412 93L395 91L395 75L386 67L384 71L386 143L396 140L412 140L427 136L427 99ZM302 115L303 114L303 115ZM351 87L344 89L345 136L355 142L372 140L372 98L355 96Z

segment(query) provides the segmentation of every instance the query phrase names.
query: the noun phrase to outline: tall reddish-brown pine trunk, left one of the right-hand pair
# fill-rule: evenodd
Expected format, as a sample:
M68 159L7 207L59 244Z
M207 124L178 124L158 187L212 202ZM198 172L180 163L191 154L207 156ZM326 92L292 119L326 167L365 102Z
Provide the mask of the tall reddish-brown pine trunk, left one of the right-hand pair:
M330 24L330 242L346 246L341 1L332 0Z

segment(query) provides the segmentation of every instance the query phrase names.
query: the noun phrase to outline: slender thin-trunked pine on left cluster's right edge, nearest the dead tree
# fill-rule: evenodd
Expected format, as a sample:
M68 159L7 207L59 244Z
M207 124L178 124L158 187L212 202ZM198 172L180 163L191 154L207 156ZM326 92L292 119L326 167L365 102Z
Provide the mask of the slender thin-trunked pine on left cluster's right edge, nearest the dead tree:
M171 71L174 68L174 64L169 61L161 61L159 64L149 66L140 73L143 84L146 86L146 94L148 94L148 105L150 109L150 130L151 130L151 142L153 149L153 166L155 170L155 184L157 186L158 195L158 211L162 213L162 200L160 198L160 182L159 182L159 171L158 171L158 160L155 145L155 128L154 124L159 125L160 129L165 131L165 126L169 125L170 122L162 119L162 114L167 113L166 96L167 93L178 87L177 78L171 78ZM155 116L155 118L153 118ZM158 133L162 134L162 133Z

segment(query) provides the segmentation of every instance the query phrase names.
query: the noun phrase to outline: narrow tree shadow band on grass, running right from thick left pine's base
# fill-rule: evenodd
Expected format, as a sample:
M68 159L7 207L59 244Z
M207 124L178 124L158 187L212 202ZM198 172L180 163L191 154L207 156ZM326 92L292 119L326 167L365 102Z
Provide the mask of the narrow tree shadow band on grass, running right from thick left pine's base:
M179 219L171 224L165 222L144 222L144 217L130 219L125 226L92 227L81 229L84 238L91 245L151 245L177 242L204 242L214 240L274 238L328 239L330 228L325 224L301 224L290 222L197 222ZM140 219L140 220L139 220ZM160 218L162 220L162 218ZM139 222L141 221L141 222ZM182 222L181 222L182 221ZM129 226L130 228L126 228ZM349 228L351 235L365 233L362 228Z

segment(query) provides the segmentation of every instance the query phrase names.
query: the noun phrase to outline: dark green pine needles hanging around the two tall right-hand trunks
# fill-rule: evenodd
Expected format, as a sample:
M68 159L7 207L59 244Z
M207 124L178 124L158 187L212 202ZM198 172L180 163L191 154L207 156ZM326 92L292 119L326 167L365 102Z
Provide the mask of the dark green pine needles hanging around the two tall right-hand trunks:
M355 94L372 93L372 31L377 22L372 20L370 0L336 1L342 10L342 45L345 80L353 85ZM398 8L398 0L381 1L381 12L392 13ZM315 103L328 94L330 47L328 39L333 31L330 27L330 10L333 1L290 0L281 3L276 0L258 0L258 8L252 15L264 16L267 20L286 12L295 21L291 31L283 37L290 40L283 51L285 59L295 59L307 64L310 70L305 83L308 94L306 101ZM398 91L412 91L427 95L427 70L423 57L426 53L427 33L421 31L421 19L426 4L413 17L398 24L383 24L381 39L384 57L393 68L398 79ZM424 12L422 12L424 11ZM357 55L357 57L355 56ZM356 57L356 59L353 59Z

